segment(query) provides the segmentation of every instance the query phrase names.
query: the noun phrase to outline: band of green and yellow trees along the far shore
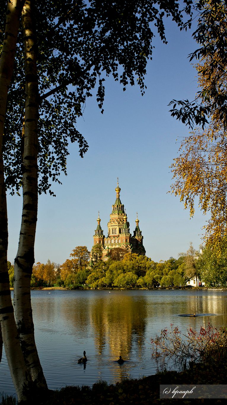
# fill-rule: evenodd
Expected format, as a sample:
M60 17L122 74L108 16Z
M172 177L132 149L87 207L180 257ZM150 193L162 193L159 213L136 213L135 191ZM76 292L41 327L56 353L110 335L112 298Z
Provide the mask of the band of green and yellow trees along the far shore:
M157 288L184 287L195 279L195 286L204 281L208 287L227 286L227 243L218 251L201 247L200 252L192 243L178 259L154 262L147 256L125 253L121 248L110 250L107 261L101 260L100 247L90 252L86 246L77 246L63 264L50 260L33 266L31 287L76 288ZM8 262L10 285L13 287L13 265Z

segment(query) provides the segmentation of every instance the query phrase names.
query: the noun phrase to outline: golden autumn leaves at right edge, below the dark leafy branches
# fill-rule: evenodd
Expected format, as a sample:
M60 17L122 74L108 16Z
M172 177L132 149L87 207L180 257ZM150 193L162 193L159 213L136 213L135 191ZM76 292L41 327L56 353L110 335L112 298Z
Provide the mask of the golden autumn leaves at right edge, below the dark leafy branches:
M227 143L226 133L212 120L205 130L195 130L182 141L180 154L174 159L172 192L180 196L190 216L199 207L209 214L205 239L220 245L227 235Z

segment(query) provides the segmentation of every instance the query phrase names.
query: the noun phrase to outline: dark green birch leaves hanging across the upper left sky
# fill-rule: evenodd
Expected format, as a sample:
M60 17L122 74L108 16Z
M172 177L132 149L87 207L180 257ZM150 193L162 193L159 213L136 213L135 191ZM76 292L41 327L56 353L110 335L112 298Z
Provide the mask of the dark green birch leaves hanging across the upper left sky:
M144 94L144 76L147 61L152 58L154 32L167 42L166 17L172 18L180 29L190 27L192 5L191 0L65 0L34 4L40 95L40 193L49 190L53 194L50 179L59 182L60 173L66 174L69 142L78 142L81 157L87 151L87 142L76 129L76 120L83 115L86 98L96 91L98 106L103 112L104 81L109 75L123 85L123 90L128 84L138 83ZM6 2L0 4L0 16L2 43ZM19 191L22 178L23 58L20 30L3 143L6 186L11 193Z

